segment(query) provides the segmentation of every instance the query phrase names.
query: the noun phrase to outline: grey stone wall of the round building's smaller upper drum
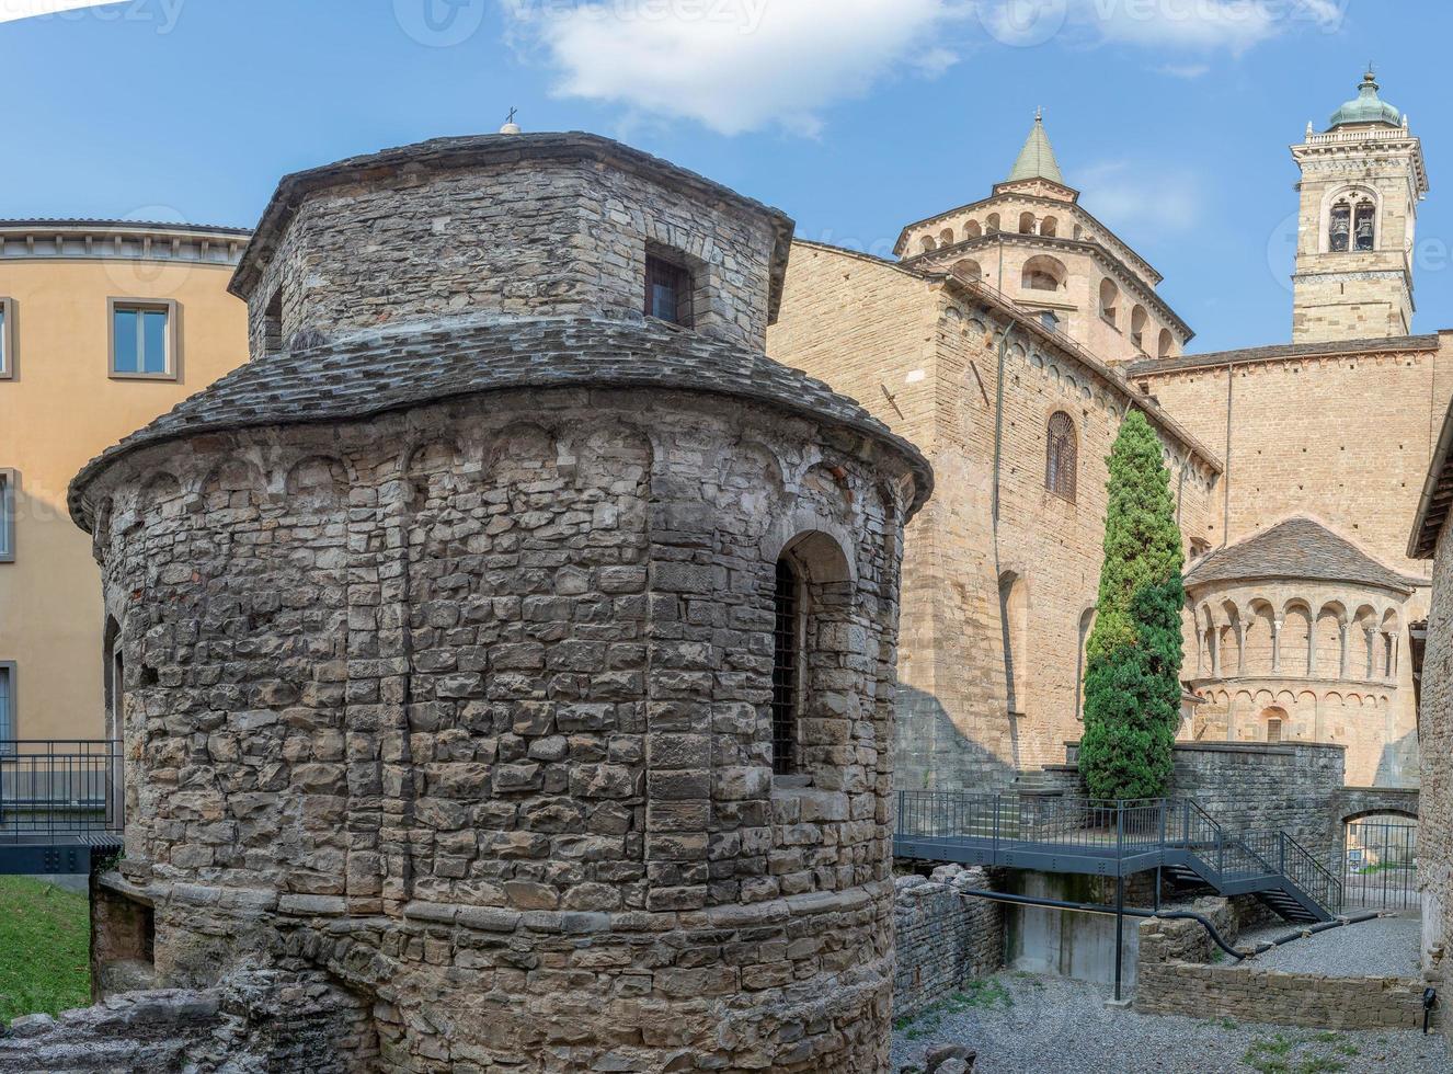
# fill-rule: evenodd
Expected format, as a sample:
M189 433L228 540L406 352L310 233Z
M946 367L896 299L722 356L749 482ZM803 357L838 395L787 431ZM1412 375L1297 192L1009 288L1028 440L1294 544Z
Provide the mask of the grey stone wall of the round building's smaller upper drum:
M501 151L424 185L410 169L308 196L257 282L251 352L272 295L282 340L488 314L639 318L648 246L692 269L696 330L763 347L777 243L764 212L578 156L526 164Z

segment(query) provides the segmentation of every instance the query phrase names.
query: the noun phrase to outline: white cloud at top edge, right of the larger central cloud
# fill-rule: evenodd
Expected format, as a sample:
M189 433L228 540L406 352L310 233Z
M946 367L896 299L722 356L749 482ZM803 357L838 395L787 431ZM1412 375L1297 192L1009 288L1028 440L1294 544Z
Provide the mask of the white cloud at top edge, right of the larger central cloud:
M982 0L989 36L1042 45L1061 33L1180 51L1241 54L1305 29L1335 32L1350 0Z

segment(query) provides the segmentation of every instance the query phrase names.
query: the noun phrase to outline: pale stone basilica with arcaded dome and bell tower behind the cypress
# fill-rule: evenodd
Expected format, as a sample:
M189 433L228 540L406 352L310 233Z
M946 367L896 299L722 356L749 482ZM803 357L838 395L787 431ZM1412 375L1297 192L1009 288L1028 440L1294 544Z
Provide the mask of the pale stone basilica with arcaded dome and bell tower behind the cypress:
M1295 519L1376 568L1369 583L1360 568L1328 576L1293 561L1193 584L1183 737L1343 744L1353 783L1417 785L1408 629L1427 615L1428 574L1404 545L1453 371L1444 337L1408 336L1388 291L1404 288L1411 317L1427 190L1421 147L1391 113L1380 100L1344 106L1293 151L1305 219L1290 344L1183 355L1191 333L1157 296L1159 275L1080 206L1039 119L1010 179L907 227L901 262L795 247L770 352L862 400L939 475L905 549L901 786L1001 782L1061 760L1078 737L1103 461L1129 405L1165 443L1191 583L1212 551L1235 554ZM1369 250L1357 249L1361 193L1375 209ZM1324 250L1343 201L1350 246ZM1376 280L1347 285L1353 263ZM979 346L953 343L946 311L960 292L974 298L958 315L984 326L965 339ZM1014 318L1001 384L997 340ZM1081 439L1072 503L1046 469L1059 407ZM1257 648L1258 618L1267 635L1287 631L1284 660ZM1242 632L1235 660L1218 661L1216 645Z

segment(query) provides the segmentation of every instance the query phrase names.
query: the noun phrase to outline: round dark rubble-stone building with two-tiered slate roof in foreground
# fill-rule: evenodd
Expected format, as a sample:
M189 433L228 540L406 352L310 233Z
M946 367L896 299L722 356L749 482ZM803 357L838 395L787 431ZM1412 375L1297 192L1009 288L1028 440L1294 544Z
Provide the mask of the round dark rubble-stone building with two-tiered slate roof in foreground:
M311 1070L888 1070L931 474L761 353L790 235L580 134L282 182L251 360L71 487L128 987L325 987Z

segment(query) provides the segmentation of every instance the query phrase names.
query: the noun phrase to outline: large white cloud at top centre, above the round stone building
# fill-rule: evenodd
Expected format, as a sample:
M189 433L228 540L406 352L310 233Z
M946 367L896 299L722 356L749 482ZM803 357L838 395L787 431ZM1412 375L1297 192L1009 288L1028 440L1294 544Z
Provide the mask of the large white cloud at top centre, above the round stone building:
M825 108L898 71L953 65L965 0L506 0L555 92L721 134L817 134Z

